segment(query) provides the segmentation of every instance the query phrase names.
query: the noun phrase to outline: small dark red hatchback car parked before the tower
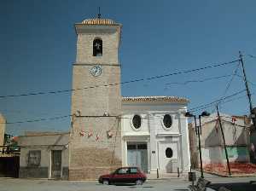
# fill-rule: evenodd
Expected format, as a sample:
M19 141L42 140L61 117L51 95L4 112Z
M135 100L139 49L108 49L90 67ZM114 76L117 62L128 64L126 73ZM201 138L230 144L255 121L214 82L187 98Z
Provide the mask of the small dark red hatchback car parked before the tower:
M136 183L143 184L147 179L146 175L137 167L122 167L111 174L99 177L99 182L103 184L116 183Z

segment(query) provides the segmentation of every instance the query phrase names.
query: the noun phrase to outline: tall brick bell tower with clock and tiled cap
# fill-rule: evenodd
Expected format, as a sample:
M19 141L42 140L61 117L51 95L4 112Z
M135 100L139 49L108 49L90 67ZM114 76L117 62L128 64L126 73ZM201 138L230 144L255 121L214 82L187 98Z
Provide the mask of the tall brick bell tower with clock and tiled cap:
M121 165L121 25L99 16L75 30L69 180L88 180Z

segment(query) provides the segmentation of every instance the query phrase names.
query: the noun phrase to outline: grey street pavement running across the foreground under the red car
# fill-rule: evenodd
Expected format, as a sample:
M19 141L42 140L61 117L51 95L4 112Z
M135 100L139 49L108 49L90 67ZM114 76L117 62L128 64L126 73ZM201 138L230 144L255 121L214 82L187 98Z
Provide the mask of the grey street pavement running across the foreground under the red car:
M196 177L200 177L200 173L196 171ZM215 175L204 173L204 177L212 182L212 188L220 186L233 186L232 188L242 190L256 190L256 177L218 177ZM98 182L84 181L55 181L47 179L22 179L22 178L0 178L0 191L118 191L118 190L149 190L149 191L187 191L191 182L185 177L162 177L161 179L151 179L143 185L102 185ZM231 187L230 187L231 188ZM212 190L211 188L207 188Z

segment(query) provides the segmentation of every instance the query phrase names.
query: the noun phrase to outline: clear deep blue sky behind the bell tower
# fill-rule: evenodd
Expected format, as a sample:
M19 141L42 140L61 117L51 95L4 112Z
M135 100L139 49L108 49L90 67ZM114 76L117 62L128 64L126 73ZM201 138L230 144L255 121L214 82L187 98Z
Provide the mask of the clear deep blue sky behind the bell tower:
M71 92L1 97L72 89L74 23L102 18L122 24L121 81L151 78L239 59L256 104L256 1L2 0L0 1L0 113L6 132L67 131ZM247 115L241 64L122 84L122 96L182 96L189 109L227 97L221 113ZM235 75L234 75L235 74ZM241 92L237 94L237 92ZM201 109L201 108L200 108ZM215 104L205 108L215 111ZM203 111L193 110L195 114Z

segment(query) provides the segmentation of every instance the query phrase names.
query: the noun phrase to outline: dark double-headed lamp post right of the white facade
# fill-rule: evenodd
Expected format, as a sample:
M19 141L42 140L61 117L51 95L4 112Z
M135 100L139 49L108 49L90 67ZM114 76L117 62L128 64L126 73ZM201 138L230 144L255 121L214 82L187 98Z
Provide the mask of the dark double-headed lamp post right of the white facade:
M209 116L210 113L207 113L207 112L202 112L200 115L199 115L199 127L196 125L196 117L195 117L195 114L192 114L192 113L185 113L185 117L194 117L195 119L195 133L198 135L198 148L199 148L199 157L200 157L200 168L201 168L201 178L204 178L204 172L203 172L203 169L202 169L202 159L201 159L201 138L200 138L200 135L201 135L201 117L205 117L205 116Z

